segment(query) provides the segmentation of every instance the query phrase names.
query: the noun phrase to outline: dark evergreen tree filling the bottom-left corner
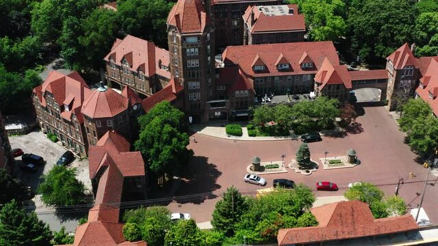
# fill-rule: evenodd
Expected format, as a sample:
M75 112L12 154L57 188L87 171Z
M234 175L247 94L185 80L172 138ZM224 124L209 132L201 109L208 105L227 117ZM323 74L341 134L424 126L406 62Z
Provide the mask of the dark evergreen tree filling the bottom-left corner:
M35 213L26 213L15 200L0 212L0 245L50 245L51 230Z

